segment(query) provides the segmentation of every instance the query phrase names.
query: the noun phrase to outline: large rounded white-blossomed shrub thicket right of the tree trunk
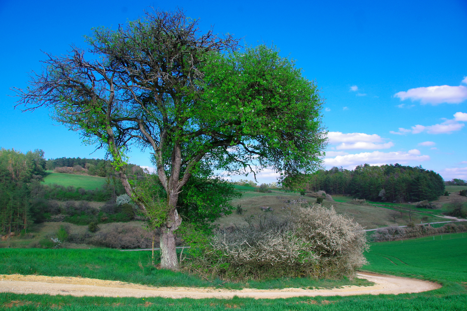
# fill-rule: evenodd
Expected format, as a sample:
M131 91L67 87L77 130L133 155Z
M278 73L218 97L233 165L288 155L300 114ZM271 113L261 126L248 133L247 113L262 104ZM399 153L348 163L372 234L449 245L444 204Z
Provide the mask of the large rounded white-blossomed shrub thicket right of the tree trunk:
M351 277L366 263L365 231L333 208L296 207L285 219L260 217L217 232L192 250L189 269L221 279Z

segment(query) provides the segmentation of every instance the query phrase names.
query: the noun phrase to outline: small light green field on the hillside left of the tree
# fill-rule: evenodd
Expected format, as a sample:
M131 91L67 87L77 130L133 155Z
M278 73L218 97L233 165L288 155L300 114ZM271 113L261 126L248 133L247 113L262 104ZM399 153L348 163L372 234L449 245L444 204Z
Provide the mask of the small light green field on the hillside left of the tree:
M64 187L73 186L75 188L92 190L100 188L103 184L106 183L105 177L53 173L52 171L47 172L49 174L45 176L43 181L43 183L46 185L57 184Z

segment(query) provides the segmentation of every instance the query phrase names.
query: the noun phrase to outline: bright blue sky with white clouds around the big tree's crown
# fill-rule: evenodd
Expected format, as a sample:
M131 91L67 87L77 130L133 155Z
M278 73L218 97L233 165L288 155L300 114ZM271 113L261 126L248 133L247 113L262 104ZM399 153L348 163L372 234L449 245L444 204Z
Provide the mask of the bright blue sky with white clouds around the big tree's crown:
M326 98L325 165L422 165L467 179L467 1L0 1L0 146L46 158L99 157L45 109L13 109L42 51L64 54L97 26L116 27L152 6L182 7L220 33L274 43ZM464 81L464 82L462 82ZM92 154L91 154L92 153ZM131 162L150 166L149 153ZM251 176L248 176L251 177ZM259 182L274 181L265 171ZM238 177L242 178L242 177ZM233 178L234 180L236 177Z

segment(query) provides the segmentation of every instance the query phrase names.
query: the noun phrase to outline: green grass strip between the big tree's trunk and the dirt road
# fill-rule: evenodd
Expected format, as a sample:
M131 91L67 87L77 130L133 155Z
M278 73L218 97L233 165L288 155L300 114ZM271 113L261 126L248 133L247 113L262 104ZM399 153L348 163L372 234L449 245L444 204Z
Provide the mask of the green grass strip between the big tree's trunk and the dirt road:
M185 252L187 250L185 249ZM182 272L158 270L150 263L150 251L121 252L117 249L1 249L3 261L0 274L38 274L44 276L78 276L101 280L119 280L153 286L222 286L226 289L334 288L344 285L368 286L371 283L354 280L314 280L281 278L248 283L211 282ZM180 252L180 249L178 249ZM160 260L155 252L156 263Z

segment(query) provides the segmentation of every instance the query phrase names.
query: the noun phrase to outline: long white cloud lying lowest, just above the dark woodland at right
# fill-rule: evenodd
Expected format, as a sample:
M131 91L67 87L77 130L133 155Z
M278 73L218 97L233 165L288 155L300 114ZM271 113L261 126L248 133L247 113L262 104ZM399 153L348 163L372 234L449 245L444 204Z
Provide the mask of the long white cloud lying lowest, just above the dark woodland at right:
M324 159L326 166L345 166L348 168L353 168L357 165L368 163L370 165L384 165L390 163L401 163L406 164L409 161L427 161L430 159L427 155L418 155L415 150L409 152L361 152L357 154L347 154L343 156L336 156L335 158L326 158Z

